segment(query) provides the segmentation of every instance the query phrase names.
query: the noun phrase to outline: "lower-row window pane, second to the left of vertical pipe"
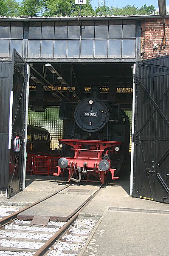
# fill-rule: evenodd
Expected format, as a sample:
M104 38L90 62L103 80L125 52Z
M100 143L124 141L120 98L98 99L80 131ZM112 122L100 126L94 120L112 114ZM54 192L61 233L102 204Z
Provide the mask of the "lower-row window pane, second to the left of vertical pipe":
M54 58L66 58L67 40L55 40Z

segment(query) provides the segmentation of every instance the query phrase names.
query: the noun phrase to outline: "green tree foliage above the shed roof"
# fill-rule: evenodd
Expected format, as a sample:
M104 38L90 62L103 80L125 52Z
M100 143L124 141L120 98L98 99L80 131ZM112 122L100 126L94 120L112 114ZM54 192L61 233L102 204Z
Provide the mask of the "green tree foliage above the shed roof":
M102 16L102 15L151 15L158 14L153 5L141 6L141 8L128 4L122 8L118 6L96 7L94 10L90 3L91 0L86 0L86 4L81 6L75 5L75 0L22 0L18 3L17 0L0 0L0 15L1 16Z

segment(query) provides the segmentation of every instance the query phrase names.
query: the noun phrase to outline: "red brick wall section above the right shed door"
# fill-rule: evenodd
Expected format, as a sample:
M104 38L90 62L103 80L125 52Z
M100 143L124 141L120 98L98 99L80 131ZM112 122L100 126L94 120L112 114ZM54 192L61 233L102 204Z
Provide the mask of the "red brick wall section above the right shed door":
M165 19L166 44L163 47L163 20L151 19L142 21L141 28L141 58L156 58L169 55L169 19ZM153 49L154 44L158 49Z

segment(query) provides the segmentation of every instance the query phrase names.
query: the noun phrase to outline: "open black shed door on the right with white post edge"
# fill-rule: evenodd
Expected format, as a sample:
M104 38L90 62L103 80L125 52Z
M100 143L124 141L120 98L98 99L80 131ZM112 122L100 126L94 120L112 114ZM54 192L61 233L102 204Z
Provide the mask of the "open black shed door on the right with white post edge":
M151 128L150 118L152 118L152 124L153 124L153 122L155 122L154 120L156 120L156 118L159 118L159 117L162 119L163 128L164 129L166 129L165 127L169 128L169 120L167 117L168 112L164 112L164 110L167 111L167 109L168 109L167 106L169 104L169 102L167 102L167 99L169 99L167 97L167 93L169 93L168 80L167 80L167 79L169 79L169 55L159 56L157 58L151 58L151 59L147 59L144 61L138 61L137 66L142 67L143 70L142 69L138 70L139 73L137 74L137 83L138 83L137 85L135 83L136 64L134 64L135 67L134 67L134 74L133 74L133 102L132 102L133 103L132 104L133 113L132 113L132 151L131 151L131 173L130 173L130 196L138 197L137 195L135 195L135 191L137 191L137 189L133 190L133 189L135 189L135 185L134 185L135 179L137 179L136 180L137 186L140 186L139 189L141 189L142 192L145 193L145 196L140 195L140 198L168 203L169 197L163 196L163 193L165 195L164 191L166 191L166 193L169 195L169 186L167 185L168 180L169 180L169 173L168 173L168 168L166 169L166 167L165 167L165 166L168 166L168 160L166 160L166 158L169 157L169 149L168 149L169 144L167 144L167 143L169 143L168 130L164 130L166 132L166 135L163 135L163 133L161 133L161 131L163 131L163 129L161 129L160 124L159 124L159 128L157 125L156 130L152 130L152 135L151 135L151 133L150 134L148 133L149 135L148 134L142 135L140 137L140 134L137 131L143 131L144 127L146 128L146 125L148 124L148 122L150 122L148 124L148 129L150 129ZM150 70L151 70L151 67L154 69L152 69L150 71L148 68L144 69L144 67L149 67ZM142 79L147 79L147 80L142 81ZM152 79L152 80L148 80L148 79ZM159 79L160 79L160 81L159 81ZM152 88L150 87L151 89L149 92L149 87L148 87L147 83L150 84L150 86L152 84L154 84L154 90L153 90L153 87ZM162 87L161 87L161 83L162 83ZM143 92L144 92L143 94L140 92L139 87L141 88L141 90L143 90ZM137 88L137 90L139 89L137 92L137 95L136 95L136 91L135 91L136 88ZM161 89L161 88L163 88L163 89ZM165 90L164 90L164 88L165 88ZM139 92L141 93L141 95L140 94L138 95ZM144 97L144 95L149 100L149 105L154 106L154 108L152 108L152 107L148 108L149 112L147 112L147 115L146 115L145 111L143 112L143 114L146 115L146 118L143 118L144 122L141 124L140 121L138 122L139 118L141 117L140 116L141 101L139 100L139 102L138 102L136 99L139 99L139 97ZM144 99L144 98L141 98L141 99ZM161 104L164 104L163 101L165 102L165 106L167 108L162 107L162 109L161 109L160 106L161 106ZM146 107L147 106L145 105L145 110L146 110ZM137 117L135 116L136 111L138 111L138 113L139 113L139 116L137 116ZM156 113L155 117L153 117L154 113ZM142 114L142 116L143 116L143 114ZM139 126L138 126L138 124L139 124ZM137 125L137 127L136 127L136 125ZM151 130L148 130L148 131L151 131ZM164 132L164 134L165 134L165 132ZM158 134L158 135L156 135L157 137L155 137L155 134ZM145 137L145 136L148 136L148 137ZM148 142L150 143L150 145L148 144ZM162 143L162 144L160 144L160 143ZM138 146L138 145L140 145L140 146ZM144 149L142 149L142 145L144 145ZM163 148L163 151L160 150L161 146ZM150 152L149 155L146 154L146 151L145 151L146 148L151 149L150 151L148 151L148 152ZM145 159L144 159L144 156L146 156ZM152 161L152 159L154 159L154 160ZM137 162L136 162L136 160L137 160ZM166 163L164 163L164 168L162 167L161 171L159 171L158 168L163 163L164 160L166 160ZM136 177L136 175L139 173L135 172L135 170L134 170L134 166L136 165L136 163L138 164L139 161L141 161L141 163L142 163L141 167L143 167L143 169L145 171L145 172L140 172L141 178L143 179L143 180L141 180L142 183L140 183L140 184L139 184L138 177ZM145 163L145 165L144 165L144 163ZM143 176L144 174L146 174L146 177ZM134 175L135 175L135 177L134 177ZM168 175L168 176L166 176L166 175ZM164 176L167 178L163 178ZM144 181L145 178L147 178L147 179ZM165 179L166 179L166 181L165 181ZM149 186L146 185L146 183L149 184ZM161 185L161 187L163 187L163 190L158 185L158 183ZM142 188L141 184L144 184L143 188ZM148 188L148 190L147 190L147 188ZM138 191L138 195L139 195L140 191ZM152 194L152 196L150 194Z

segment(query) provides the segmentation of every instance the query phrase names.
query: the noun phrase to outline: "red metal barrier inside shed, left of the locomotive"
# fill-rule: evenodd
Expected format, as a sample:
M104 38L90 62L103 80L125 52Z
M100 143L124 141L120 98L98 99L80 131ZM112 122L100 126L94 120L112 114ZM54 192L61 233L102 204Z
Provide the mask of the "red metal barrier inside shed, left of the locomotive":
M46 156L48 155L48 156ZM31 175L50 175L56 172L56 166L60 155L54 156L52 154L37 155L28 154L26 162L26 171L31 172Z

